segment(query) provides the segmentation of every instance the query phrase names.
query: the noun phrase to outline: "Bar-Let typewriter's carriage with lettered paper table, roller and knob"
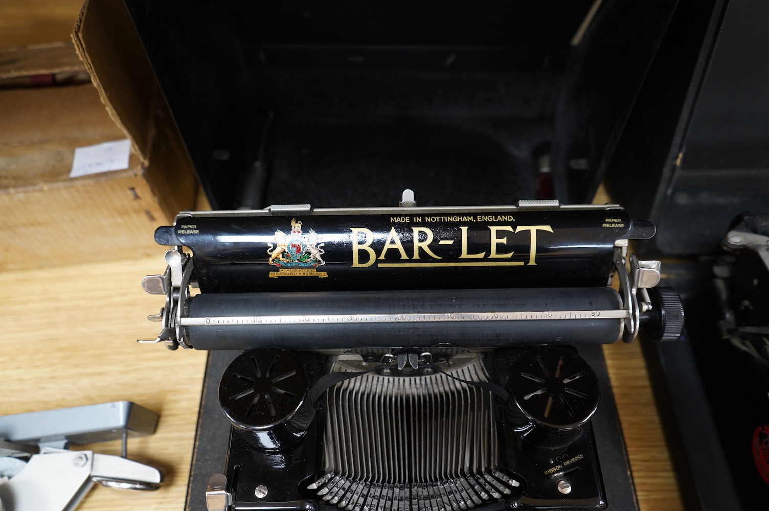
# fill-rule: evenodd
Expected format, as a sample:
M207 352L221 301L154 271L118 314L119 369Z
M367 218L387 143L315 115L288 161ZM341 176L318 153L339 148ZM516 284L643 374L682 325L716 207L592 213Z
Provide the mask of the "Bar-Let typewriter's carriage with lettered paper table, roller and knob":
M158 243L177 246L165 256L165 274L145 277L142 282L148 292L165 294L166 306L160 314L150 317L162 322L161 334L154 341L141 342L165 342L170 349L179 345L188 348L193 346L189 339L194 336L202 349L246 349L261 345L253 336L258 327L270 343L296 346L295 340L301 339L298 346L315 349L360 347L357 343L361 334L367 336L370 347L393 343L407 346L415 333L428 345L611 343L618 337L630 342L642 322L655 323L651 331L657 340L677 338L683 310L673 310L674 294L667 315L651 312L662 310L664 297L668 296L650 296L647 292L659 282L659 261L639 261L634 255L626 260L628 239L651 237L653 226L631 221L616 205L575 207L557 202L553 205L552 201L519 204L497 209L465 207L459 210L465 214L454 216L445 216L447 211L457 211L451 208L408 208L414 220L424 218L431 227L431 218L448 218L443 230L408 227L408 222L398 225L400 217L393 215L403 214L405 208L311 211L308 206L291 206L295 208L291 217L307 214L319 230L318 226L324 226L330 231L318 234L311 230L311 235L336 258L331 277L326 271L318 273L317 267L330 267L324 266L323 260L303 263L288 259L276 263L272 256L268 258L268 247L274 247L272 241L278 244L278 234L285 237L279 227L288 224L289 215L281 207L231 214L180 214L176 227L160 227L156 232ZM444 216L424 216L436 211ZM359 212L364 215L356 216ZM618 222L606 223L607 216L619 216L609 218ZM488 227L488 219L495 217L504 218L502 224L515 218L518 226ZM371 229L352 227L355 222L368 222ZM472 227L459 225L462 223ZM195 229L185 229L189 225ZM291 231L291 246L298 253L309 254L301 221L298 226L298 230ZM275 229L275 236L271 236ZM254 234L243 234L244 230ZM538 230L550 236L539 245ZM421 238L423 231L429 233L428 239ZM501 232L517 237L508 244L508 237L501 237ZM542 236L539 234L540 240ZM404 243L413 244L411 260ZM444 249L444 243L454 247ZM194 255L184 254L182 244L191 247ZM379 254L372 248L376 244ZM443 255L431 251L438 251L436 245L444 250L440 252ZM501 246L515 250L497 253ZM489 247L491 256L485 257ZM400 257L393 256L396 251ZM420 253L430 260L419 261ZM521 257L524 254L528 257ZM428 267L430 274L424 271ZM272 271L276 268L278 271ZM197 297L189 296L193 271L203 291ZM606 285L614 271L619 293ZM269 278L265 278L266 274ZM308 293L281 291L291 289L281 284L285 282L280 280L281 275L298 276L301 285L296 289ZM301 280L303 277L307 278ZM472 290L478 282L498 288L494 296L502 303L488 304L487 292ZM547 286L558 290L548 293ZM453 292L451 287L458 290ZM377 288L380 290L374 291ZM594 302L594 306L587 305ZM276 310L281 314L275 314ZM473 315L481 311L483 314ZM464 327L468 320L481 321L467 330ZM543 329L542 325L552 323L550 320L558 320L558 328L568 335ZM509 328L511 321L519 322L516 329L521 333L508 338L510 332L517 331ZM532 323L536 321L541 324ZM666 331L668 324L671 327ZM594 330L588 333L585 325Z

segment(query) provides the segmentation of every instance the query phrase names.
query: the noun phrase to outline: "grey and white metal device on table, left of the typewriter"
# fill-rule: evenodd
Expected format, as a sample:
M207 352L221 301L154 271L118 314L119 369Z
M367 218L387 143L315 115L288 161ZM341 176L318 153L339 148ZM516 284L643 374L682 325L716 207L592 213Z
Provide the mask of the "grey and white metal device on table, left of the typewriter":
M157 413L130 401L0 416L0 511L72 511L94 483L158 489L159 470L125 458L128 436L157 424ZM117 439L123 457L52 447Z

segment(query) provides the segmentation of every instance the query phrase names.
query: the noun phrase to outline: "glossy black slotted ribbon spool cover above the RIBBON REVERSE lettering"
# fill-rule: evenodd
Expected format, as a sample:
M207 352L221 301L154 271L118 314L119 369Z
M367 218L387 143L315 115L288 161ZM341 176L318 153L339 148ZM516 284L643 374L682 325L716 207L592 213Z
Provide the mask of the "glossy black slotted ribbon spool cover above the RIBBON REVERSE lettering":
M601 390L590 365L561 347L528 350L513 366L510 416L521 438L561 447L581 435L598 409Z

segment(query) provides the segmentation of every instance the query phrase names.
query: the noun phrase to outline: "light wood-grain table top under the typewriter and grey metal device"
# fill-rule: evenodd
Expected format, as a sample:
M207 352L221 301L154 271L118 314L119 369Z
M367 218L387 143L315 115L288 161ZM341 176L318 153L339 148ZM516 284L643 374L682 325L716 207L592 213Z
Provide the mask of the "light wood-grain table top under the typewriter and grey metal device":
M157 466L156 492L95 486L82 511L181 511L185 502L205 352L138 344L154 338L146 320L162 297L145 294L141 277L162 273L157 257L0 273L3 397L0 415L115 400L160 413L157 433L128 441L128 457ZM638 340L604 348L638 500L643 511L683 509ZM119 442L91 446L119 454ZM201 510L203 511L203 510Z

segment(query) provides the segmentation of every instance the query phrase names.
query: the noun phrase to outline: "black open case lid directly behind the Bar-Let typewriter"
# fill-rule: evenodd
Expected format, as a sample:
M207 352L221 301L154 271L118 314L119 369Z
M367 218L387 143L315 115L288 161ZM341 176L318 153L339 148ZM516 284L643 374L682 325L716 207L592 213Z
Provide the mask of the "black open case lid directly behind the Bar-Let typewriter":
M589 202L676 4L125 0L217 209Z

